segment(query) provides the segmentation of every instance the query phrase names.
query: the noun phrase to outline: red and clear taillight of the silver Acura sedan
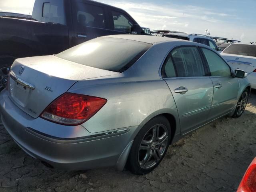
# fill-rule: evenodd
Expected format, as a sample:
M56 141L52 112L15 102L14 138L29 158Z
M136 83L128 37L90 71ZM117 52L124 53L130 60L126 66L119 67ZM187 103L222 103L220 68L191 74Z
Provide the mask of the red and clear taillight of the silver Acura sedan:
M79 125L90 119L107 100L94 96L64 93L42 112L41 117L64 125Z

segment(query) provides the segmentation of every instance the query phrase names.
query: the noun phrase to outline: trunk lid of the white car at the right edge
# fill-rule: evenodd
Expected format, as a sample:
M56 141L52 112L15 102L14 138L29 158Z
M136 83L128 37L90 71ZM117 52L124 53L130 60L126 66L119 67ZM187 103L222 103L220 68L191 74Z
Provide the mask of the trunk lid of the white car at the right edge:
M221 55L233 69L241 69L248 74L256 69L256 57L226 53L221 53Z

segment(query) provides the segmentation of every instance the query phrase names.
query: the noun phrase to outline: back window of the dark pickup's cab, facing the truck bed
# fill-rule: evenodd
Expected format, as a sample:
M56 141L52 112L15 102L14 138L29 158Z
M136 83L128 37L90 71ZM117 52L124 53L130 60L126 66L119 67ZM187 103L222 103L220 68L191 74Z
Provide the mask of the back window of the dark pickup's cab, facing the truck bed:
M58 0L43 4L42 22L66 24L64 8Z

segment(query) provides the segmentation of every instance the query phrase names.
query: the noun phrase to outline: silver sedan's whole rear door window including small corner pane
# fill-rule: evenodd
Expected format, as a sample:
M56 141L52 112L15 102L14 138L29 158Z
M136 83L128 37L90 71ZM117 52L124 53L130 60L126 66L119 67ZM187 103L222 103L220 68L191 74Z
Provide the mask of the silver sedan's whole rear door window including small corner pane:
M207 76L197 47L180 47L172 50L164 65L164 77Z

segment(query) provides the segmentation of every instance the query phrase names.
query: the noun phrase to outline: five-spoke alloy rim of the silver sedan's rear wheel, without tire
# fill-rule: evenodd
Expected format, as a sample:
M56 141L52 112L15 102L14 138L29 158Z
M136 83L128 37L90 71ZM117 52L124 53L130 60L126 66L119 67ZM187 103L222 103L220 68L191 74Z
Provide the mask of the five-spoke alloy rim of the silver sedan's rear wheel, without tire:
M138 163L141 168L149 169L155 166L168 148L168 130L163 124L156 124L144 135L139 151Z

